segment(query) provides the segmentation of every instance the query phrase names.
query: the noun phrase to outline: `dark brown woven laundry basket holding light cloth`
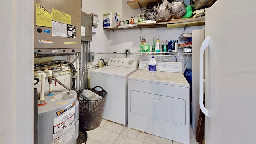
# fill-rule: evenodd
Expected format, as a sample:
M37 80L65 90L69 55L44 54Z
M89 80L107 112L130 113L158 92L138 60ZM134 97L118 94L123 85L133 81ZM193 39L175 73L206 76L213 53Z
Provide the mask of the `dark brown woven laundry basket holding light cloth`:
M101 88L101 91L97 91L95 89L97 87ZM83 90L77 91L77 100L79 101L79 128L84 131L94 130L100 126L107 95L107 92L100 86L86 89L91 90L103 98L100 100L79 100Z

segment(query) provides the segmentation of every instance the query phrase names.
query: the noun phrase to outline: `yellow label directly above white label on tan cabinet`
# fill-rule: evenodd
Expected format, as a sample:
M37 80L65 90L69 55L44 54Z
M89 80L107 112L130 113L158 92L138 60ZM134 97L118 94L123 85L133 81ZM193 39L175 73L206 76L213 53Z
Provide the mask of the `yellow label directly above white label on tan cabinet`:
M71 16L64 12L60 12L52 8L52 20L62 22L65 24L71 24Z

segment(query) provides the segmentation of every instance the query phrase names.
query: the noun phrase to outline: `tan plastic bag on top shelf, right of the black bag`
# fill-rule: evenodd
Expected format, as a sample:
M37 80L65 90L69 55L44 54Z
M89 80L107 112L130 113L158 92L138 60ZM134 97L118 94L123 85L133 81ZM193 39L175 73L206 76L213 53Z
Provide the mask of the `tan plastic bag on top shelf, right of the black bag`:
M170 4L167 0L163 0L162 4L158 3L156 8L156 22L166 22L172 18L171 12L168 9L168 4Z

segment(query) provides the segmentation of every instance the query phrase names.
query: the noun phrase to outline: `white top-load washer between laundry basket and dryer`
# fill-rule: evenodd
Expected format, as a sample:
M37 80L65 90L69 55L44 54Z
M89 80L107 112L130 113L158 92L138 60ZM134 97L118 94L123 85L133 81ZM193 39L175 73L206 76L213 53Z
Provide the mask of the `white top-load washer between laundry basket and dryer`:
M128 76L138 70L134 58L110 58L108 66L91 70L91 87L101 86L107 92L103 118L126 125L128 116Z

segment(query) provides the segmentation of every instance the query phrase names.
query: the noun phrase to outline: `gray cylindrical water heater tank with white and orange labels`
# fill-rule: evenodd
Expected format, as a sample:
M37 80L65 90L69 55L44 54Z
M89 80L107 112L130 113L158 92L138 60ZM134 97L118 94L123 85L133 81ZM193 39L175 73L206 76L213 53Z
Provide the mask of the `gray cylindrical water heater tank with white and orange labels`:
M76 92L54 90L46 96L45 106L38 107L38 144L76 144L79 132L79 102ZM38 104L40 102L38 101Z

